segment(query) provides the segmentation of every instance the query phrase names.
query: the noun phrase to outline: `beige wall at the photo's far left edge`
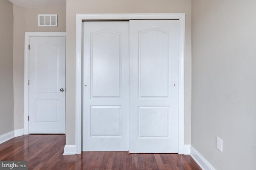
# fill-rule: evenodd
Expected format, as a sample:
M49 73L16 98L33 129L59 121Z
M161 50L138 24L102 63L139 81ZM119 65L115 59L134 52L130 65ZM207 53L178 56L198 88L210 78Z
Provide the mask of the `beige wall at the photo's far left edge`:
M13 127L12 3L0 0L0 135Z

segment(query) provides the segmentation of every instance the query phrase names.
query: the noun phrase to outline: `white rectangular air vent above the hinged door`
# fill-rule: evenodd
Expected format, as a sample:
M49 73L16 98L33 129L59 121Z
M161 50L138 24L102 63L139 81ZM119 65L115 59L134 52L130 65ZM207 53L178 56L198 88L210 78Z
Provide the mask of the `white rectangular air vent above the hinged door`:
M57 27L58 26L57 14L39 14L38 27Z

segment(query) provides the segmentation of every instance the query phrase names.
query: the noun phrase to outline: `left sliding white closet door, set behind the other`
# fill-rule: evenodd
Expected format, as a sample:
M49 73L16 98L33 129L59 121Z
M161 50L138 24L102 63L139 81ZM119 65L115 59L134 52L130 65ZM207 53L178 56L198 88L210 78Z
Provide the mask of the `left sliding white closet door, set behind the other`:
M128 151L129 23L83 23L83 151Z

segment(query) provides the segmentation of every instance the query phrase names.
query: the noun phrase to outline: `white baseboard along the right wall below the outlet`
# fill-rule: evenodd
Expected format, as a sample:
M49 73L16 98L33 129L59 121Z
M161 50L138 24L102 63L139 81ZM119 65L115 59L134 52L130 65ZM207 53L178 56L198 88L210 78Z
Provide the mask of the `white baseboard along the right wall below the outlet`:
M194 149L194 147L191 146L190 151L190 156L203 170L215 170L215 168L196 149Z

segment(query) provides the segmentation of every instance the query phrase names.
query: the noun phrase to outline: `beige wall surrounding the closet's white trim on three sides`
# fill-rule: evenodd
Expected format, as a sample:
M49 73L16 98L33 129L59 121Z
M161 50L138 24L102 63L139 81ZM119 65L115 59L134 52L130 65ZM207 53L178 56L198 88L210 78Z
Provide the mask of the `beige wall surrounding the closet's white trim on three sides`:
M66 18L66 145L75 144L76 14L185 13L185 126L184 141L191 139L191 0L67 0Z

